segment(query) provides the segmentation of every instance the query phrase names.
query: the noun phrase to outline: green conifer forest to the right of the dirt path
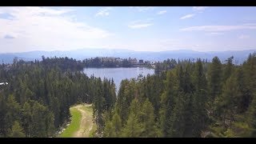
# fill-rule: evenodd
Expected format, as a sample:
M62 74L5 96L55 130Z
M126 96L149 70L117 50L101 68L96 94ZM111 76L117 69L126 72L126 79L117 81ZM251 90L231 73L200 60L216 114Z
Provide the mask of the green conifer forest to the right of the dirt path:
M169 66L170 65L170 66ZM256 137L256 54L240 66L180 61L139 81L123 80L103 137Z

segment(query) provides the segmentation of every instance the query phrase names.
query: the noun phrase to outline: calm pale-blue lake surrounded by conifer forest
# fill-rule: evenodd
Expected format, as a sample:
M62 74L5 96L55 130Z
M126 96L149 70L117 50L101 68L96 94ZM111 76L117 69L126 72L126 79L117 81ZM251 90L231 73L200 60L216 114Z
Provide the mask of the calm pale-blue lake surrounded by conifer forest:
M118 92L122 79L137 78L139 74L146 76L147 74L154 74L154 69L146 67L118 67L118 68L85 68L83 72L87 76L94 74L94 77L99 78L113 78Z

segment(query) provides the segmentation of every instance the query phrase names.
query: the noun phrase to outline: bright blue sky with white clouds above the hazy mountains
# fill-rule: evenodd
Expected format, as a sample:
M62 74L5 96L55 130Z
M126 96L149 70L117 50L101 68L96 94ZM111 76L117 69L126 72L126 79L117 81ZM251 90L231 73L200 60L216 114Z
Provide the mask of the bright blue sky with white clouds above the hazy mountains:
M0 53L251 50L256 7L0 7Z

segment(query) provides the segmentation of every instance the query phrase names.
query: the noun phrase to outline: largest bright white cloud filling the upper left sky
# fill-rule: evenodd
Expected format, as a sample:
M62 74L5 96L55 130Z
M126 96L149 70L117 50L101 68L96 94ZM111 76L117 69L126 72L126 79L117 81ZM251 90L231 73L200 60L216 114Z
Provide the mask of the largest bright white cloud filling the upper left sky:
M11 19L0 18L0 45L5 50L35 46L45 47L44 50L70 48L111 35L106 30L76 22L74 17L67 16L66 13L71 11L68 9L3 7L0 11L12 16Z

